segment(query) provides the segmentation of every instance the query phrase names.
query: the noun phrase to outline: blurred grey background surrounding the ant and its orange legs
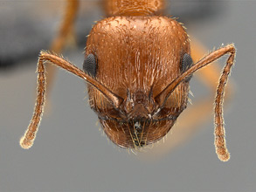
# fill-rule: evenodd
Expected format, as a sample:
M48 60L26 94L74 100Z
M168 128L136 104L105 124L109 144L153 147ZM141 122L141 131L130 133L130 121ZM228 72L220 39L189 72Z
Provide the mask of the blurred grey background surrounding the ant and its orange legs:
M64 53L79 67L84 59L81 45L93 21L104 16L99 1L82 1L81 7L78 46ZM97 116L85 99L85 83L63 70L56 77L48 100L51 107L34 146L19 147L34 107L38 51L49 46L63 8L62 1L0 0L1 192L256 190L256 1L170 1L167 10L180 17L188 33L208 50L229 43L238 49L231 75L234 94L225 106L231 152L225 163L213 146L213 112L197 133L161 154L158 148L175 137L180 120L155 150L135 155L115 147L95 125ZM225 58L219 63L223 66ZM197 79L191 81L191 90L192 100L207 93Z

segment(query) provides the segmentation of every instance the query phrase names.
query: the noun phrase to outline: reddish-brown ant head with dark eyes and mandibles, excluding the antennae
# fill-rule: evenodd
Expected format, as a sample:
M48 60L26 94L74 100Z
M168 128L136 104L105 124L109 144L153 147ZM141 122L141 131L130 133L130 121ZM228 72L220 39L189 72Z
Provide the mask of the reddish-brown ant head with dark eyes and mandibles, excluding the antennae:
M191 64L189 39L174 19L108 17L96 24L84 70L120 100L114 105L88 85L90 105L110 140L142 147L163 138L187 105L189 79L167 87Z

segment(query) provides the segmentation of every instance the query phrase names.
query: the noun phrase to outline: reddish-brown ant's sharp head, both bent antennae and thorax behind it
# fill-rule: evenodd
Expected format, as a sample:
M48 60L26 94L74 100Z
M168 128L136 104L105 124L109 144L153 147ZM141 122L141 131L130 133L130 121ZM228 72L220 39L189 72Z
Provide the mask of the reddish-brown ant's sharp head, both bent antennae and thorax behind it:
M76 2L76 1L75 1ZM187 106L193 72L229 53L215 100L215 147L228 161L223 125L225 83L235 57L226 45L193 64L182 24L158 16L163 1L106 1L109 17L93 26L86 43L84 72L48 51L38 58L38 98L31 124L21 139L32 146L45 103L44 62L86 80L91 108L108 138L120 147L143 147L163 138Z

